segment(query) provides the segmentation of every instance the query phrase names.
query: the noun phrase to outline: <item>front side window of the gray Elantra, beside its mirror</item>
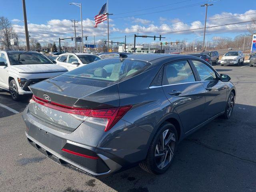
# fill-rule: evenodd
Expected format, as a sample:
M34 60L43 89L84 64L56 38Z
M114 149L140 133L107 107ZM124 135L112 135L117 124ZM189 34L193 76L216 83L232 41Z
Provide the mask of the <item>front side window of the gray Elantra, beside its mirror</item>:
M208 65L196 60L192 60L192 62L198 71L201 81L217 80L214 70L212 70Z

